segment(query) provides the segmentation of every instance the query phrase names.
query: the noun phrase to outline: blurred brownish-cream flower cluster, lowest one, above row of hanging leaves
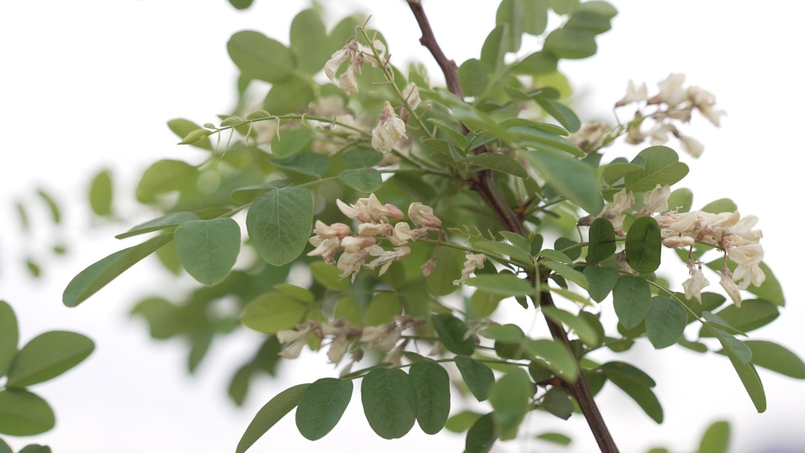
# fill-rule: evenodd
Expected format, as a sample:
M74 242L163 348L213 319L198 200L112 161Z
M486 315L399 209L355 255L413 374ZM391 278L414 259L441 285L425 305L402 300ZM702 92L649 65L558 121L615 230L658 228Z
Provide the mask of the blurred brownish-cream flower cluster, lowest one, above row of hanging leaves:
M386 360L394 363L395 355L396 362L399 362L399 355L402 355L403 348L405 347L405 340L403 344L398 346L400 339L402 339L403 331L423 324L423 318L414 318L408 315L395 316L394 321L382 324L380 326L365 326L363 328L356 327L346 322L344 319L336 319L332 322L319 322L309 320L301 324L297 324L295 330L279 330L277 332L277 339L282 343L283 350L279 355L286 359L295 359L299 357L299 353L305 344L308 344L308 337L317 339L316 343L319 345L322 340L329 339L330 348L327 352L327 358L331 364L341 363L347 351L349 351L350 343L363 343L363 346L377 349L378 351L389 353ZM399 351L398 351L399 350ZM396 352L395 354L395 351ZM350 368L355 362L361 361L363 358L363 349L356 347L352 353L352 361L342 370L342 374L349 373Z

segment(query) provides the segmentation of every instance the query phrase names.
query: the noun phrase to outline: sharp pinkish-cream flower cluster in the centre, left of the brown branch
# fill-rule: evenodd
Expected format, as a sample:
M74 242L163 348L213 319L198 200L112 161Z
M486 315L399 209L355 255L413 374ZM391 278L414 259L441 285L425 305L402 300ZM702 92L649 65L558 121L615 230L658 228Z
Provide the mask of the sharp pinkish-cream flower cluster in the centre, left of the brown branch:
M316 220L314 235L309 239L316 248L308 256L321 256L325 263L334 264L336 252L343 251L336 265L342 272L341 278L352 276L353 282L361 267L374 269L379 266L382 275L391 263L411 253L408 243L427 238L428 231L441 230L442 226L430 206L411 203L408 218L417 226L411 229L408 222L402 222L405 218L402 210L392 204L382 204L374 193L368 198L359 198L354 205L341 200L336 200L336 204L341 213L360 222L357 235L345 223L327 225ZM390 220L398 222L391 225ZM394 248L386 250L382 243L390 243ZM376 258L367 263L371 256Z

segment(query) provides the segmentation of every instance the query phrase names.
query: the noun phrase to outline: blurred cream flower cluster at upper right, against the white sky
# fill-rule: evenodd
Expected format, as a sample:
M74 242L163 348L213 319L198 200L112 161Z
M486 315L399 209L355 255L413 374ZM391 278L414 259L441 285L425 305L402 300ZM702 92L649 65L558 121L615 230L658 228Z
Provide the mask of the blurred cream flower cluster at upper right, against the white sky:
M691 112L699 110L711 123L720 126L720 118L725 114L725 111L716 110L715 95L698 86L683 88L684 81L684 74L671 74L667 79L657 84L659 93L652 97L648 96L648 89L645 83L637 86L634 85L633 81L629 81L626 95L615 104L616 107L625 106L633 102L646 102L646 106L656 105L660 106L660 108L651 114L646 114L641 110L635 112L632 122L634 127L630 127L626 142L638 144L650 138L652 144L663 144L668 141L668 134L671 133L679 139L682 148L688 154L694 157L700 156L704 151L704 145L690 136L683 135L672 122L677 120L682 123L689 123ZM643 118L654 119L654 126L648 131L642 131L640 127Z

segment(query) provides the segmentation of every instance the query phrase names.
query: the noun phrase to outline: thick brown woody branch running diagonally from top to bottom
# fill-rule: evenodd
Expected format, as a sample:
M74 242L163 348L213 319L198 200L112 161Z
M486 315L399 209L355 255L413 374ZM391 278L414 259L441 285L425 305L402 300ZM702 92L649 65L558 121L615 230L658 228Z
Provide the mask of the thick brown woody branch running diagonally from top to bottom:
M447 81L450 92L463 99L464 93L461 91L461 85L458 81L456 62L449 60L439 47L439 43L436 41L436 36L433 35L431 24L428 22L425 11L423 10L421 0L407 0L407 2L408 6L411 7L411 12L414 13L416 22L419 23L419 29L422 31L422 38L419 39L419 42L422 43L422 45L431 52L433 58L436 59L436 63L439 64L439 67L444 73L444 78ZM476 154L480 154L481 152L487 152L487 150L485 147L480 147L477 148L475 152ZM489 208L493 211L497 219L502 223L507 231L512 231L518 235L526 235L525 228L523 227L522 214L515 212L509 205L506 204L506 202L504 202L500 193L497 191L497 188L493 184L491 170L483 170L478 172L475 177L468 181L468 184L470 189L473 189L481 194L481 197L484 198L484 201L487 203L487 205L489 205ZM541 276L539 276L539 274L535 271L535 276L533 278L541 278ZM539 305L543 307L554 306L551 293L540 293ZM564 327L560 324L552 322L548 318L545 318L545 320L547 322L548 329L551 330L551 336L553 336L556 341L564 343L564 345L572 351L572 348L570 347L570 340L568 340L568 333L565 332ZM562 386L565 389L568 389L572 396L576 398L581 412L584 414L584 418L587 418L590 430L592 430L592 435L595 436L598 447L601 448L601 451L603 453L618 453L617 446L615 445L612 435L609 434L609 430L604 422L604 418L601 417L601 411L598 410L596 401L592 397L592 392L590 392L587 380L584 379L584 374L580 373L576 382L571 383L564 381Z

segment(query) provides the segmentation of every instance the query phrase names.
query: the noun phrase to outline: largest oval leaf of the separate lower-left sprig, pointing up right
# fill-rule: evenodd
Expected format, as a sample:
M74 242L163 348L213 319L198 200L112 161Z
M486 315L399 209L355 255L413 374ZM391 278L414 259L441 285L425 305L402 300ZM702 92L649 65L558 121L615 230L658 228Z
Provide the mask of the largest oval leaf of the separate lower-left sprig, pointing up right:
M74 332L54 330L31 339L14 357L6 386L23 388L53 379L86 359L93 340Z

